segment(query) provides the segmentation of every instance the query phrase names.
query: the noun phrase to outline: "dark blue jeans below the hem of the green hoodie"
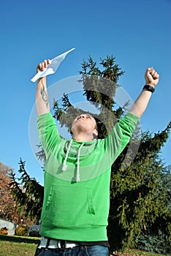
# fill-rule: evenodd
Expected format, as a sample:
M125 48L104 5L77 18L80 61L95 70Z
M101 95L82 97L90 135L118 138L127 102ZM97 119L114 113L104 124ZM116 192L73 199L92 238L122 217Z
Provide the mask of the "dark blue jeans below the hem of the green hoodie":
M76 246L68 249L37 248L34 256L109 256L109 249L102 245Z

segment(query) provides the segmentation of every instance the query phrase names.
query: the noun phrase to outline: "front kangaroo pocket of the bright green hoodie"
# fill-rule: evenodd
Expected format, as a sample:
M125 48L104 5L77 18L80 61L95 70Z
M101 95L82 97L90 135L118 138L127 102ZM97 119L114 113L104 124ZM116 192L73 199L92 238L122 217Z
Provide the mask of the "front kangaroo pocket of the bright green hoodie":
M92 189L53 185L47 198L42 221L53 225L92 225L94 223Z

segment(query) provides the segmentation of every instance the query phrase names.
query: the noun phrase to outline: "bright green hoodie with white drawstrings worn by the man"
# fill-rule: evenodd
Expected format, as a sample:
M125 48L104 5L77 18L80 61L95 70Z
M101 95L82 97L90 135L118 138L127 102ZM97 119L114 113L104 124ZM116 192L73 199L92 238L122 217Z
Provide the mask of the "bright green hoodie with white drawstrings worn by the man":
M106 138L61 138L51 113L38 116L45 151L40 234L71 241L107 241L111 165L129 143L139 118L128 113Z

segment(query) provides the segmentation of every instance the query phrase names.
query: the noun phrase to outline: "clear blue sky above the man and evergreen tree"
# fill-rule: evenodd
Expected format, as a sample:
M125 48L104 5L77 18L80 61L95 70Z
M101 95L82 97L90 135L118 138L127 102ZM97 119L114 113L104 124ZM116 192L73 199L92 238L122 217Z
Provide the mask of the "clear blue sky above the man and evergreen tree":
M146 67L160 74L142 129L161 131L171 121L171 1L162 0L16 0L1 3L1 133L0 162L16 172L20 157L42 184L42 169L31 150L28 125L39 61L74 48L48 85L78 75L83 59L115 56L125 74L118 83L136 99L145 84ZM170 136L171 137L171 136ZM161 151L171 165L171 138Z

